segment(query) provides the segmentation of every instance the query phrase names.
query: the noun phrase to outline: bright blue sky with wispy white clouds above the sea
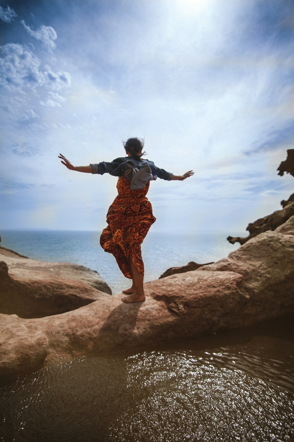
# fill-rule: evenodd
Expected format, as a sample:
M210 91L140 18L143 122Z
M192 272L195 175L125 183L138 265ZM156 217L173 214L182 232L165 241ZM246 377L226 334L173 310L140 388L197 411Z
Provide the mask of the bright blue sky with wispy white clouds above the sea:
M102 230L125 156L157 179L153 231L245 232L294 179L292 0L0 0L0 229Z

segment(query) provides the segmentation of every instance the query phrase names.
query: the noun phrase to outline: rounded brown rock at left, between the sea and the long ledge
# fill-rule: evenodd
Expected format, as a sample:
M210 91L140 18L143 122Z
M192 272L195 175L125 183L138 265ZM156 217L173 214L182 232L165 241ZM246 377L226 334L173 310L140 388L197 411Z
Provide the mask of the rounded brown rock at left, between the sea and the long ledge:
M68 263L35 261L0 248L0 312L22 318L78 309L111 294L97 272ZM104 293L103 293L104 292Z

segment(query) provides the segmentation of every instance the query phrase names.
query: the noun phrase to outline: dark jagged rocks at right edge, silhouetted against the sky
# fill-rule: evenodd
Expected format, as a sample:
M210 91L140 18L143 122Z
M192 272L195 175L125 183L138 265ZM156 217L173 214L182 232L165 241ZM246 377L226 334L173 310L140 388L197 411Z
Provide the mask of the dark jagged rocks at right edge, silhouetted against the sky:
M278 175L282 176L284 172L287 172L294 176L294 149L287 150L287 159L282 161L277 170L279 171ZM279 225L282 225L294 215L294 194L290 195L287 201L281 201L281 205L283 207L282 210L276 210L271 215L267 215L253 223L249 223L246 227L249 236L246 236L245 238L241 238L240 236L228 236L227 240L231 244L238 242L242 245L260 233L266 232L267 230L275 230Z

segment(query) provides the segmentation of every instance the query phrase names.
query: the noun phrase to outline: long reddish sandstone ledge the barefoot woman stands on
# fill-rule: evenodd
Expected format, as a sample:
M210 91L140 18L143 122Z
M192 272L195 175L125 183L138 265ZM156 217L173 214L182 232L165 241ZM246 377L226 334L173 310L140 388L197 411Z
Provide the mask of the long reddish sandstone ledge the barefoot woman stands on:
M29 359L33 368L33 361L40 364L42 358L56 353L97 355L289 315L294 312L294 216L275 231L247 241L227 258L148 282L145 291L143 303L124 304L120 295L104 296L54 316L0 315L2 329L9 339L28 336L33 349L40 342L39 354L34 350L35 359ZM26 339L19 347L25 354ZM0 367L7 374L5 348ZM17 362L10 365L13 373L23 370Z

